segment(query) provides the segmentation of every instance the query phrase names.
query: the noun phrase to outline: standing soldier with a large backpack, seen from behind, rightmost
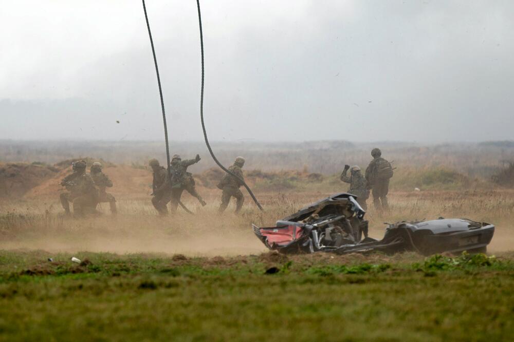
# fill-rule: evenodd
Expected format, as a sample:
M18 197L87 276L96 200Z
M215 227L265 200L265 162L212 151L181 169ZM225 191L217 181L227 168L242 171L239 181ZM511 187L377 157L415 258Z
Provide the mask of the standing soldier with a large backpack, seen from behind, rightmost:
M366 180L368 188L372 189L373 204L377 210L389 209L387 194L389 192L389 180L393 177L391 163L383 159L382 151L374 148L371 151L373 160L366 168Z

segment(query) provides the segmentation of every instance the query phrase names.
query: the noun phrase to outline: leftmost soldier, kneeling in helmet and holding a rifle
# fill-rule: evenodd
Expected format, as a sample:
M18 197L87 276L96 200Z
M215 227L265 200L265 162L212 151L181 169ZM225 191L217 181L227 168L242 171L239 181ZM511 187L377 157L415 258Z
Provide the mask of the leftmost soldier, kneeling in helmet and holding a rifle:
M72 164L73 173L66 176L61 185L65 186L69 193L61 194L61 204L70 215L69 202L73 203L73 212L77 217L86 212L94 212L98 199L98 189L90 175L86 173L86 162L83 160Z

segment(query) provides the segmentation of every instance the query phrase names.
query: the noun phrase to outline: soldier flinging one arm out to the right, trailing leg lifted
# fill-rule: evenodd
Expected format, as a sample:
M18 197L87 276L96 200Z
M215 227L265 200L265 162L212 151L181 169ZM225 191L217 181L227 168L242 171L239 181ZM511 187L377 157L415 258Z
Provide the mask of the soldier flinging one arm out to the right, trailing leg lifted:
M196 197L201 205L205 206L207 203L196 192L195 181L193 175L187 172L188 167L200 161L200 156L196 155L195 159L182 160L179 155L174 155L171 159L171 174L172 174L172 209L176 210L178 201L182 196L182 191L186 190L191 196Z

